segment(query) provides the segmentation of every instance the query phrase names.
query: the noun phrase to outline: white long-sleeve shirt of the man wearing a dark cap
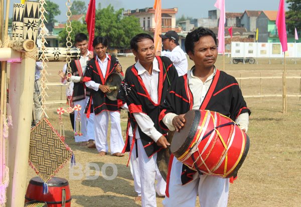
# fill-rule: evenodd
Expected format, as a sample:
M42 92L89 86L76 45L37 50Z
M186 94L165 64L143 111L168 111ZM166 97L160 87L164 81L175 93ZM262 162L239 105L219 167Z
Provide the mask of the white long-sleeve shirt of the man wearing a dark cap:
M172 51L161 51L162 56L169 57L175 65L178 75L182 76L187 73L188 61L185 52L178 45Z

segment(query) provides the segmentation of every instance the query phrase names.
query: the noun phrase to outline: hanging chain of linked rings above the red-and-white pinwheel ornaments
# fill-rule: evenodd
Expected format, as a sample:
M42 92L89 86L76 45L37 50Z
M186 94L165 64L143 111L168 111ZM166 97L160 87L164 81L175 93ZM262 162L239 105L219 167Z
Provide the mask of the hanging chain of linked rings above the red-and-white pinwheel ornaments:
M72 75L72 70L70 67L70 62L71 62L71 47L72 47L72 42L71 42L71 36L70 33L72 32L72 26L71 26L71 21L70 17L72 16L72 12L70 10L72 3L70 0L66 2L66 6L68 8L68 11L66 12L66 15L68 17L67 22L66 22L66 31L68 32L68 36L66 37L66 46L67 46L67 56L66 56L66 61L67 61L67 73L66 73L66 80L67 80L67 93L68 93L68 104L69 107L71 107L71 75Z

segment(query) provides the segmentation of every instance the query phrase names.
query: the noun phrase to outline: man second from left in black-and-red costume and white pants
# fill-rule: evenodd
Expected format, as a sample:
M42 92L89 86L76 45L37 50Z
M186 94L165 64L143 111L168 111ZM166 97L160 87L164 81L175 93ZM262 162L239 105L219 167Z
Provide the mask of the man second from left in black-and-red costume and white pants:
M94 38L93 47L97 56L88 62L84 77L86 86L92 89L87 105L87 117L93 108L95 144L99 155L103 156L108 152L107 130L110 115L110 151L112 155L123 156L121 151L124 141L121 135L120 110L117 107L117 100L110 100L106 97L106 92L110 91L110 88L105 85L108 75L121 72L121 67L115 57L106 53L107 46L105 37Z

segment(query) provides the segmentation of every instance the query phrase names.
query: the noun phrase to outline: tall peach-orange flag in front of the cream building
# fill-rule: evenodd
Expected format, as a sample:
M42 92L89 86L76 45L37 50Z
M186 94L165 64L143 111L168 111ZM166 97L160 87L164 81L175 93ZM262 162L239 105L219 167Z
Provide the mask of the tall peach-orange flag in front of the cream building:
M155 0L155 34L154 34L154 45L156 51L162 50L162 39L159 36L162 33L162 17L161 17L161 0Z

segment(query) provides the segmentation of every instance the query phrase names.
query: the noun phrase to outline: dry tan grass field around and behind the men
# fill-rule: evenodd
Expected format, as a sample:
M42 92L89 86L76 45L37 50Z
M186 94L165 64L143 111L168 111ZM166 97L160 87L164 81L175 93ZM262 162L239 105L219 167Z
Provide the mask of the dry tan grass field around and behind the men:
M133 63L134 58L120 57L119 61L125 69ZM259 60L259 64L229 62L229 58L226 58L225 71L235 77L259 76L260 73L262 76L282 75L283 65L280 59L272 59L272 64L268 64L268 60ZM292 60L287 60L288 76L300 76L299 63L301 62L297 61L297 64L293 64ZM59 82L57 73L63 65L62 62L48 63L49 82ZM189 60L189 67L192 65L193 62ZM222 65L222 56L219 56L216 66L222 69ZM242 80L240 83L244 95L260 93L259 79ZM48 100L65 99L65 91L65 87L49 86ZM288 79L287 94L299 92L300 79ZM282 80L262 79L262 93L282 94ZM234 184L230 184L228 206L301 206L301 101L298 97L288 97L287 113L283 114L281 97L250 97L245 100L252 111L248 129L250 149L239 170L238 179ZM49 120L55 126L59 118L56 108L60 104L47 106ZM126 116L125 111L121 111L124 137ZM68 163L56 176L68 179L72 196L71 206L140 206L141 202L134 200L136 192L133 179L130 168L126 167L128 154L124 157L110 154L97 156L96 149L78 146L71 138L73 132L69 115L64 114L63 121L66 129L65 140L74 151L77 166L70 169ZM108 180L114 173L116 177ZM95 176L86 177L92 175ZM29 166L28 181L33 176L35 172ZM158 206L163 206L163 199L157 196Z

